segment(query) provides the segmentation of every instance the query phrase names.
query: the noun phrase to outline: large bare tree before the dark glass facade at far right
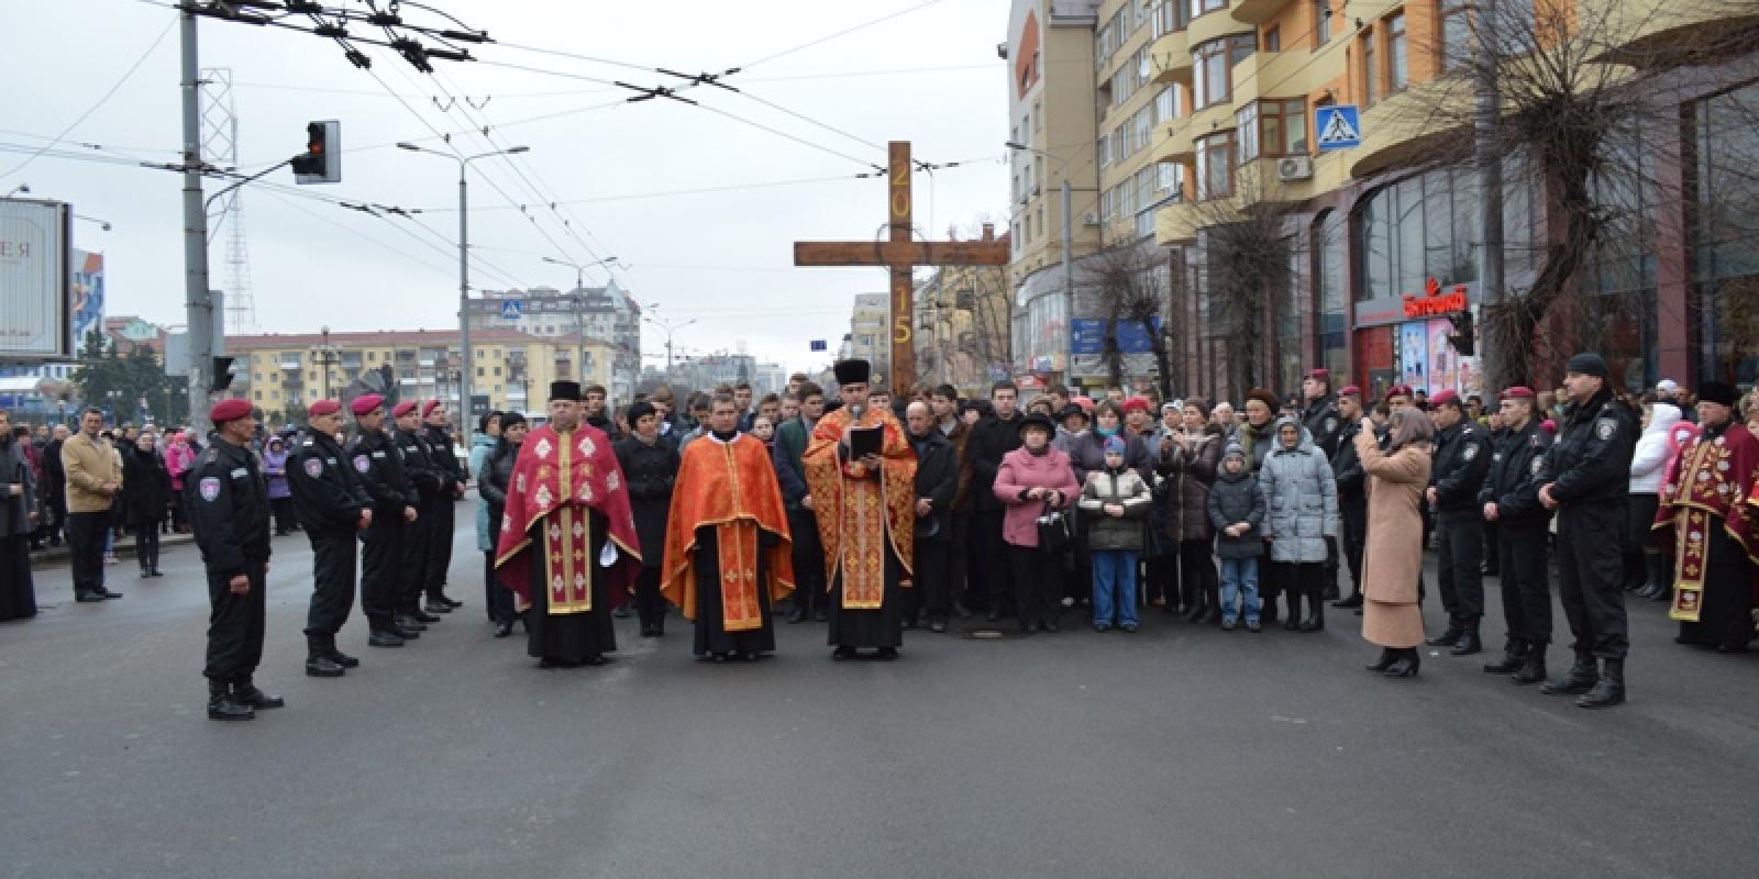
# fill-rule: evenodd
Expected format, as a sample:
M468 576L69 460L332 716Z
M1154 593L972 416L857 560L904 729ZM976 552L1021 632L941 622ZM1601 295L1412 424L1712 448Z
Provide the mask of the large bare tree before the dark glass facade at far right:
M1527 188L1543 202L1546 232L1530 248L1530 281L1514 278L1506 290L1486 290L1485 345L1495 353L1490 387L1532 383L1541 364L1558 360L1560 345L1595 339L1597 327L1583 302L1583 274L1604 257L1602 243L1618 236L1650 236L1641 204L1622 199L1634 186L1680 204L1678 183L1657 176L1632 149L1646 127L1678 130L1683 67L1720 63L1754 47L1755 0L1713 0L1712 18L1726 26L1689 30L1676 25L1699 5L1669 0L1497 0L1462 12L1465 30L1441 28L1432 46L1446 72L1414 84L1400 111L1384 123L1409 128L1416 149L1397 156L1404 167L1458 163L1472 148L1474 83L1493 76L1500 116L1495 153L1522 169L1507 188ZM1650 223L1650 227L1645 227ZM1523 287L1523 288L1516 288ZM1641 285L1638 285L1641 287ZM1506 294L1506 295L1504 295ZM1604 315L1604 308L1601 308ZM1682 316L1683 318L1683 316ZM1581 325L1578 320L1588 320ZM1569 327L1564 339L1544 325ZM1604 327L1601 327L1604 329ZM1574 336L1571 339L1569 336Z

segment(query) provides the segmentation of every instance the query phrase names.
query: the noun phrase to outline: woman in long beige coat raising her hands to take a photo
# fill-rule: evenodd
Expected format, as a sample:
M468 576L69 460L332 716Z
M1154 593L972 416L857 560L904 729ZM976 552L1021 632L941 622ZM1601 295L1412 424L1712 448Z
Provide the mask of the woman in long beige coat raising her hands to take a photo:
M1356 454L1369 475L1369 543L1361 554L1361 636L1383 647L1369 672L1418 677L1423 612L1423 489L1428 487L1435 422L1414 408L1393 411L1386 452L1363 418Z

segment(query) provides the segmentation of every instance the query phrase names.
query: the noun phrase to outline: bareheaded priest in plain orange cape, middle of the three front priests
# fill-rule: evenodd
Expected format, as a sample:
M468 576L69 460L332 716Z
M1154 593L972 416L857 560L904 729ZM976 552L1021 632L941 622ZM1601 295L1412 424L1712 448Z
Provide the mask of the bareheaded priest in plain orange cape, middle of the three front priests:
M730 394L684 447L667 513L660 594L697 621L695 654L756 661L776 649L770 603L793 592L781 483L763 441L739 432Z

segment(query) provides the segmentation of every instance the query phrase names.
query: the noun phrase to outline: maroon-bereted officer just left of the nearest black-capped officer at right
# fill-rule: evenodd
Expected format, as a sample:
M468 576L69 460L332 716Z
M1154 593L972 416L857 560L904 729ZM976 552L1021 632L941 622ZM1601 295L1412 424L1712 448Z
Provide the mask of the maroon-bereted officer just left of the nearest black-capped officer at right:
M1485 663L1485 672L1513 673L1516 684L1543 684L1544 650L1551 643L1551 575L1546 566L1551 513L1539 505L1536 475L1551 441L1539 427L1532 389L1516 385L1504 390L1500 406L1502 438L1478 503L1485 520L1497 524L1502 621L1509 635L1502 659Z

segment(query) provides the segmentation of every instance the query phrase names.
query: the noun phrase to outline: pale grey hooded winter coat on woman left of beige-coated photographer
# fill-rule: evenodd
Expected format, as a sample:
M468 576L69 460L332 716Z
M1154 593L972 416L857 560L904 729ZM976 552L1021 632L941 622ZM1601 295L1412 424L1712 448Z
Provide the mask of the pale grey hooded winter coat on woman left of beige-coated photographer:
M1284 448L1275 440L1282 425L1293 425L1300 432L1295 448ZM1337 536L1337 480L1332 476L1332 462L1295 418L1277 418L1270 436L1275 447L1258 469L1258 483L1270 510L1265 517L1270 561L1325 561L1325 538Z

